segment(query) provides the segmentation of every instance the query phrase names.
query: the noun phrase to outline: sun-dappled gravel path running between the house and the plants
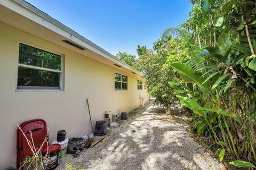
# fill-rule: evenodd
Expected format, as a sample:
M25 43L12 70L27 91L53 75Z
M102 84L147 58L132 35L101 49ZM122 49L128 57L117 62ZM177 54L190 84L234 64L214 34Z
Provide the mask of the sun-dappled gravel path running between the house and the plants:
M166 115L163 108L139 107L118 128L77 158L67 155L65 163L85 169L226 169L210 150L189 137L186 116Z

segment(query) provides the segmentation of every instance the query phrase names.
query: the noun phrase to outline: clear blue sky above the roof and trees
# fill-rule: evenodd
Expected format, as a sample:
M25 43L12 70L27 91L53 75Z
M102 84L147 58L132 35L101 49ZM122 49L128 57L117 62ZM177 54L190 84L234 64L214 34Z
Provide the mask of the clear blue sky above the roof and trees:
M137 56L152 48L166 27L188 19L188 0L26 0L80 35L116 55Z

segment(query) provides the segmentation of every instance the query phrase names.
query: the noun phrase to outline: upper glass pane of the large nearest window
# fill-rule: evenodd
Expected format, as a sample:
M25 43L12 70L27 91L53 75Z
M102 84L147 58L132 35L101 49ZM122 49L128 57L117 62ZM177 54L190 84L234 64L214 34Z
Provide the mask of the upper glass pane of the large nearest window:
M61 70L61 56L42 49L20 44L19 63Z

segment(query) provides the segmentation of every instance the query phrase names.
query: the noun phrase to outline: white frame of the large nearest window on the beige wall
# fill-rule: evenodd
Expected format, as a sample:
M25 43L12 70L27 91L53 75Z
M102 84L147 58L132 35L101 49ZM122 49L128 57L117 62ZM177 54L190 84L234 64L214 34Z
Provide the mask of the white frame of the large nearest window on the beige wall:
M44 67L38 67L38 66L27 65L27 64L20 64L19 63L20 44L24 44L24 45L27 45L27 46L30 46L30 47L38 48L38 49L44 50L45 52L49 52L49 53L53 53L53 54L61 56L61 70L47 69L47 68L44 68ZM18 43L18 67L17 68L19 68L19 66L20 66L20 67L25 67L25 68L29 68L29 69L43 70L43 71L50 71L50 72L60 73L60 88L56 89L54 87L41 87L41 86L27 86L26 88L18 88L18 70L19 69L17 69L16 91L17 92L19 92L19 91L63 91L63 80L64 80L64 76L63 76L63 70L64 70L63 65L64 64L63 63L64 63L64 56L63 56L63 54L60 54L60 53L57 53L57 52L53 52L53 51L51 51L49 49L45 49L43 47L39 47L39 46L36 46L36 45L31 45L31 44L24 43L24 42L20 41Z

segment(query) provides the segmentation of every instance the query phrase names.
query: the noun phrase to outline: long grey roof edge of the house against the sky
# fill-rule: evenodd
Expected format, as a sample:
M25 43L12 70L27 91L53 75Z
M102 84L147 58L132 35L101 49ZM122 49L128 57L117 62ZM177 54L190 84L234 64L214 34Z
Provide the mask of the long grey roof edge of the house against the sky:
M52 18L50 15L46 14L45 12L39 10L37 7L35 7L34 5L24 1L24 0L13 0L14 2L20 4L21 6L27 8L29 11L34 12L35 14L41 16L42 18L44 18L45 20L51 22L52 24L56 25L57 27L69 32L71 35L77 37L78 39L81 39L82 41L84 41L85 43L89 44L90 46L100 50L100 52L105 53L106 55L108 55L109 57L113 58L114 60L116 60L117 62L120 62L122 64L124 64L126 67L128 67L127 69L136 72L140 75L143 75L141 72L139 72L138 70L134 69L133 67L131 67L129 64L123 62L122 60L119 60L119 58L117 58L116 56L114 56L113 54L107 52L105 49L99 47L98 45L92 43L92 41L86 39L85 37L83 37L82 35L79 35L79 33L77 33L76 31L70 29L69 27L67 27L66 25L62 24L61 22L59 22L58 20L55 20L54 18ZM118 63L117 63L118 64Z

